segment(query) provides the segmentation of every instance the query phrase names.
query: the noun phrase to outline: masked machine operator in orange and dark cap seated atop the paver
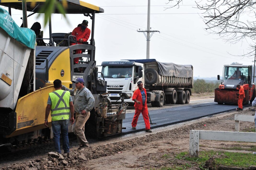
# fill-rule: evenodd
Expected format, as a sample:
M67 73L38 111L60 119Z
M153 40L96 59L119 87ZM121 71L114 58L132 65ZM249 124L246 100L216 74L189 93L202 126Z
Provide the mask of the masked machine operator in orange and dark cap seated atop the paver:
M91 30L88 27L88 21L87 20L83 20L81 26L76 27L73 31L72 31L72 36L76 36L77 38L77 43L78 44L82 44L83 42L88 41L90 34L91 34ZM74 45L76 43L70 43L70 45ZM76 54L81 54L81 49L77 49ZM79 58L74 58L74 64L77 64L79 61Z

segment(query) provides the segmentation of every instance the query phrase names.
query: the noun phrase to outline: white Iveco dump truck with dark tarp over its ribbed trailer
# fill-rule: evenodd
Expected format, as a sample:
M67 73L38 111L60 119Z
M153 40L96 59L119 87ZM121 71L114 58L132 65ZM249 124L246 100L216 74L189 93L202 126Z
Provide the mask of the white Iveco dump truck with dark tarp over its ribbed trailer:
M189 103L193 88L193 66L162 63L155 59L102 62L102 73L107 81L111 102L119 102L118 94L125 92L133 105L133 92L142 81L147 90L147 103L153 107L164 104Z

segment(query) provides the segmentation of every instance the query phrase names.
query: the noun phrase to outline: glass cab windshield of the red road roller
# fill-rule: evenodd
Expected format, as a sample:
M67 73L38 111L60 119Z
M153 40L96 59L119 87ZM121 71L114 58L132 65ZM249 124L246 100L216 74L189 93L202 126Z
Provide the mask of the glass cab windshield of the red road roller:
M247 80L248 67L226 67L224 73L224 79L231 80Z

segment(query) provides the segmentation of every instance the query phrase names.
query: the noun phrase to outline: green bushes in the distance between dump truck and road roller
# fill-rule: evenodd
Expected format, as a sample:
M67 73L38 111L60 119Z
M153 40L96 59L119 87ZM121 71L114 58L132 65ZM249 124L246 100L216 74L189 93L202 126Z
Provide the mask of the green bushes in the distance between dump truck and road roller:
M216 80L216 81L205 81L203 79L197 79L194 80L194 86L191 89L192 93L205 93L205 92L214 92L215 88L218 88L220 85L221 81Z

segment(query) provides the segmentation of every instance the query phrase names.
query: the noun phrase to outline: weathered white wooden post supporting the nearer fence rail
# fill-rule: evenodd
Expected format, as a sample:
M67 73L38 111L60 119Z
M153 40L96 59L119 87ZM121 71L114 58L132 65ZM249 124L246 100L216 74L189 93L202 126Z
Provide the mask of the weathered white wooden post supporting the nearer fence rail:
M199 130L190 130L189 154L195 157L199 156Z

